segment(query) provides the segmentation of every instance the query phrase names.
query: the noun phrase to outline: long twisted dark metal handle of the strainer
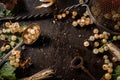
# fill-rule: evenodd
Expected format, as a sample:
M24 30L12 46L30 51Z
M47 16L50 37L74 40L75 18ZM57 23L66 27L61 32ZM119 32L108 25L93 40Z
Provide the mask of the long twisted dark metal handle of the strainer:
M65 9L61 9L58 11L58 13L64 12L66 10L71 10L73 8L78 8L79 6L81 6L82 4L76 4L76 5L72 5L69 7L66 7ZM24 16L14 16L14 17L2 17L0 18L0 21L21 21L21 20L33 20L33 19L45 19L45 18L52 18L54 17L54 13L53 12L49 12L49 13L45 13L45 14L30 14L30 15L24 15Z

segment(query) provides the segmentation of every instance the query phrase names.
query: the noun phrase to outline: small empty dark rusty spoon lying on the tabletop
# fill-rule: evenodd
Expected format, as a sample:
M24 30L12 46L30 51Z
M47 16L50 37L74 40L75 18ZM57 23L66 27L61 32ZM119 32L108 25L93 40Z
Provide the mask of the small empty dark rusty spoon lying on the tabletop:
M71 67L73 69L82 69L85 73L87 73L92 80L96 80L95 77L89 72L87 68L83 66L83 58L81 56L76 56L71 61Z

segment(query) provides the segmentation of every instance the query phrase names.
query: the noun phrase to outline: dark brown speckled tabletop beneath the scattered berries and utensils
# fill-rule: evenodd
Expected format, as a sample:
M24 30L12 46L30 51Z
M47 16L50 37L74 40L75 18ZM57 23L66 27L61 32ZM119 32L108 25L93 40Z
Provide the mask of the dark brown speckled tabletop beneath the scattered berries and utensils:
M58 9L64 9L77 3L78 1L75 0L57 0L55 4ZM54 11L54 7L35 10L34 7L39 4L41 4L39 0L20 0L20 4L14 12L16 12L16 16L23 16ZM77 10L79 15L82 15L85 8L79 7L73 10ZM71 18L56 21L52 17L20 21L21 24L38 23L42 32L40 38L33 45L25 45L26 49L22 51L23 57L31 57L32 65L24 70L17 69L16 76L18 78L30 76L45 68L52 68L56 72L55 80L58 78L60 80L91 80L81 69L70 68L71 60L75 56L83 57L84 66L96 80L103 76L102 55L94 55L91 49L83 46L84 40L92 34L95 25L74 28L72 21Z

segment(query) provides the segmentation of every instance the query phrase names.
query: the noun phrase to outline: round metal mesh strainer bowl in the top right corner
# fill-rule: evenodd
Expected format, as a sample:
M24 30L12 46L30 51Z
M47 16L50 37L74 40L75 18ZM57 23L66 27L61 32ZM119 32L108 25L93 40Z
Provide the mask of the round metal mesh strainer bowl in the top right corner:
M120 29L114 28L120 21L120 0L89 0L88 4L86 4L88 0L82 1L82 6L86 7L90 18L97 27L112 34L120 34Z

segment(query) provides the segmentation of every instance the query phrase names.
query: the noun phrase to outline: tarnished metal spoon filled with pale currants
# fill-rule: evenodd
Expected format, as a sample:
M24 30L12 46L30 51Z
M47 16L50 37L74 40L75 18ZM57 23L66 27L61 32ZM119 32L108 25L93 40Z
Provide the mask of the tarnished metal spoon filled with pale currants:
M28 42L26 42L26 39L24 38L24 35L26 35L26 33L28 33L28 32L27 32L28 29L33 28L33 27L36 27L36 28L38 29L39 34L38 34L38 35L35 35L36 38L33 39L32 42L28 43ZM33 44L33 43L39 38L39 35L40 35L40 34L41 34L41 30L40 30L40 26L39 26L39 25L37 25L37 24L31 24L31 25L29 25L29 26L23 31L22 41L21 41L16 47L14 47L12 50L10 50L3 58L0 59L0 66L1 66L3 63L6 62L6 60L7 60L8 57L11 55L11 52L12 52L13 50L17 49L17 48L18 48L19 46L21 46L23 43L24 43L24 44L27 44L27 45Z

